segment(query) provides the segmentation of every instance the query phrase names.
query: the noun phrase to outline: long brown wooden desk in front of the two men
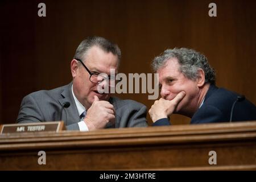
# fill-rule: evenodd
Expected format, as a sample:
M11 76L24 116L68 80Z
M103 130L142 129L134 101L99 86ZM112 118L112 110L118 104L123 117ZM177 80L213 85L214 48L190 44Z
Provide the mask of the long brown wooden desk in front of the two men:
M1 135L0 169L256 169L256 122Z

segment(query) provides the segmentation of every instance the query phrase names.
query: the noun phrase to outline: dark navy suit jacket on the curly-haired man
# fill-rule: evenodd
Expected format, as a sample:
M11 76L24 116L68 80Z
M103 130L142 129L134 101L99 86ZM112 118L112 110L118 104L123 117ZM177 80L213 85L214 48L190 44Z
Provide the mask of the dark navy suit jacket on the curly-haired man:
M228 122L232 105L237 100L237 96L239 96L237 93L210 85L204 104L191 118L191 124ZM256 120L255 105L246 99L237 102L234 106L232 122L251 120ZM153 126L162 125L170 125L167 118L159 119L153 124Z

